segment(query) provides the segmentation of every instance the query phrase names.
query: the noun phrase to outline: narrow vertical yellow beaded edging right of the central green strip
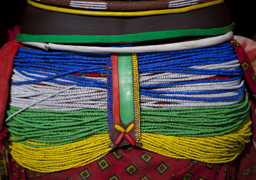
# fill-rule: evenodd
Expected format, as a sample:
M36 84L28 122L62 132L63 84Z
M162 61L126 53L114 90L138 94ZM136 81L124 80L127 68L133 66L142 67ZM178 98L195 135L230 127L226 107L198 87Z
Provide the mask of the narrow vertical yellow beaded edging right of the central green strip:
M140 92L139 92L139 71L136 53L132 54L133 71L134 71L134 110L135 110L135 137L136 140L141 139L141 113L140 113Z

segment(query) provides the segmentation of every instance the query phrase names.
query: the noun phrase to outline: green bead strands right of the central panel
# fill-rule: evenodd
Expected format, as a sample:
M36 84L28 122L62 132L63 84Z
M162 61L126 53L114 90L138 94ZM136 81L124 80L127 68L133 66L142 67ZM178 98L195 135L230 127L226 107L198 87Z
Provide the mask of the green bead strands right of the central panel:
M195 108L141 110L141 132L173 136L219 136L239 127L247 117L246 95L239 104Z

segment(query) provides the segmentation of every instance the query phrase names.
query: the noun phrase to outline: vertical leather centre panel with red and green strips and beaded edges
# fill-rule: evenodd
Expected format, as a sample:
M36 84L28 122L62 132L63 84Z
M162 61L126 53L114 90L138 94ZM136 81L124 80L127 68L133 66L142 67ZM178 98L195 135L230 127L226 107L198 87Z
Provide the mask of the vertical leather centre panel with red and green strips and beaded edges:
M140 141L140 105L139 73L136 54L111 55L112 102L108 107L113 119L109 122L110 147L125 144L141 146Z

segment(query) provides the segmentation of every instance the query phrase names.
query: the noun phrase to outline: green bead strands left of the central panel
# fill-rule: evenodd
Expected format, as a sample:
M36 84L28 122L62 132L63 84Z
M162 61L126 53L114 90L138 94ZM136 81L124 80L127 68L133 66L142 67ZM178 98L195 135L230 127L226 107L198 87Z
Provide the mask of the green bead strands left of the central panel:
M8 116L19 108L10 107ZM108 133L107 110L83 109L78 111L52 111L27 109L7 122L14 138L33 147L51 147L72 143L95 134ZM17 137L19 136L19 137ZM51 145L39 146L24 142L31 140Z

